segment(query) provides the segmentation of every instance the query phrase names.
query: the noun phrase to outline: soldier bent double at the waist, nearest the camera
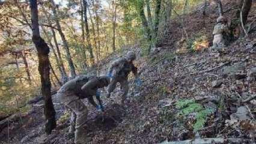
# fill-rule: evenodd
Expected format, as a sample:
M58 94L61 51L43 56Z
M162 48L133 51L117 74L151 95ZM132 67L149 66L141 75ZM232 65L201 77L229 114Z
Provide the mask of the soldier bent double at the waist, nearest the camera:
M76 144L87 143L86 133L82 127L87 120L88 109L81 99L88 98L88 101L97 110L103 110L100 91L98 89L108 86L108 84L109 77L107 76L94 77L81 75L65 83L59 89L57 97L60 103L72 110L69 133L74 133L75 131ZM93 95L96 95L99 106L93 100Z

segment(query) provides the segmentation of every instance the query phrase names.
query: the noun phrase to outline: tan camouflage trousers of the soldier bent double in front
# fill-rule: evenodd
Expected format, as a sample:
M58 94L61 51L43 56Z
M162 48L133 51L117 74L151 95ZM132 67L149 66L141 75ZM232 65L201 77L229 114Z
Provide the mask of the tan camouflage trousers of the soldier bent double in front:
M83 128L88 115L87 107L74 94L58 92L57 97L59 98L60 103L64 104L68 109L72 111L72 115L70 117L69 133L74 133L75 131L75 143L87 143L86 131Z

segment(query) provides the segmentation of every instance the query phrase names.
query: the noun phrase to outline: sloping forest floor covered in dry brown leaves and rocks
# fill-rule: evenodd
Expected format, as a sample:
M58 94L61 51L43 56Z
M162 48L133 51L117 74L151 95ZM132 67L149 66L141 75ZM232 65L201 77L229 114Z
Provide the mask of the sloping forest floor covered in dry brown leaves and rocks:
M248 22L256 17L255 3ZM225 10L231 6L224 3ZM185 24L187 33L193 35L203 31L212 41L215 10L209 6L205 23L207 29L197 26L204 23L200 20L200 11L187 16L185 23L190 20L190 25ZM169 25L173 27L178 22ZM134 50L138 55L135 65L139 67L143 81L141 86L135 86L133 77L130 77L129 95L124 107L119 104L120 86L109 99L102 89L106 107L104 116L85 100L90 110L85 126L90 143L160 143L206 137L237 138L243 140L238 143L254 143L256 100L248 98L255 99L255 94L249 91L250 86L255 86L255 81L250 81L248 73L256 73L256 32L249 34L249 38L231 43L222 53L213 53L209 49L181 53L177 44L181 37L177 35L181 35L180 31L170 29L165 32L159 48L148 57L142 56L139 46L133 46L118 56L110 56L99 64L97 70L90 71L91 74L97 74L97 71L105 74L110 62L127 50ZM56 95L52 98L58 119L58 126L52 134L44 134L43 101L39 101L32 104L31 111L20 116L19 121L10 121L8 127L1 130L0 143L72 143L73 137L67 136L69 113L58 103ZM177 103L184 99L193 100L190 103L200 105L202 109L213 109L206 117L204 128L197 132L194 131L194 124L199 121L197 111L190 115L177 114L182 112Z

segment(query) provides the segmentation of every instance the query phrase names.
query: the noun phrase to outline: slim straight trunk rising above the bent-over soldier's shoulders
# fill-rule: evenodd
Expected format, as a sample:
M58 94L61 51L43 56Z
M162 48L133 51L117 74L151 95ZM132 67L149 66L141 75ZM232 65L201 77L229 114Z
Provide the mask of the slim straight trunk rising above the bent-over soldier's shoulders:
M82 1L84 6L84 22L85 22L85 31L86 31L88 49L90 53L90 61L91 61L91 64L94 64L93 48L91 47L89 25L88 25L88 19L87 19L87 1L86 0L82 0Z

